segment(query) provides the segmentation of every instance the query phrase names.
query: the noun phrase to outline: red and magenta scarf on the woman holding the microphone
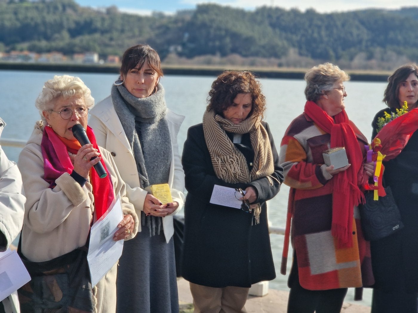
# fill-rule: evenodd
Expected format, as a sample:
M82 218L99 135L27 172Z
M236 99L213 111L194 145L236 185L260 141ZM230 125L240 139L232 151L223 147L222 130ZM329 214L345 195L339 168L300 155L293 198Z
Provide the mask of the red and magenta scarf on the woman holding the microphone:
M96 137L94 136L91 127L87 126L87 137L93 144L93 148L99 150L96 143ZM48 126L43 129L43 137L41 142L42 155L43 155L43 169L46 182L50 183L49 188L56 186L55 180L65 172L71 174L74 169L74 165L68 155L68 151L72 154L77 154L77 151L81 145L78 141L72 141L69 139L58 136L55 131ZM100 151L99 151L100 153ZM94 195L94 208L96 211L96 217L99 219L104 212L109 208L114 199L112 181L110 180L110 174L107 171L103 158L100 160L104 169L107 172L107 176L99 178L94 167L90 169L90 182L93 187Z

